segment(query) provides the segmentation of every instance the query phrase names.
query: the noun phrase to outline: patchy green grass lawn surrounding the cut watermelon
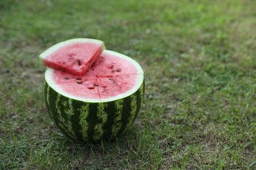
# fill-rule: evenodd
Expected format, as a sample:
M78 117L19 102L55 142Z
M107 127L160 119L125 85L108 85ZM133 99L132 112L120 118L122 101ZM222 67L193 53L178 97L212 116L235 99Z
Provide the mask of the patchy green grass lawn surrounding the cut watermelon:
M0 2L0 169L255 169L255 1ZM69 141L38 55L75 37L139 61L146 94L112 141Z

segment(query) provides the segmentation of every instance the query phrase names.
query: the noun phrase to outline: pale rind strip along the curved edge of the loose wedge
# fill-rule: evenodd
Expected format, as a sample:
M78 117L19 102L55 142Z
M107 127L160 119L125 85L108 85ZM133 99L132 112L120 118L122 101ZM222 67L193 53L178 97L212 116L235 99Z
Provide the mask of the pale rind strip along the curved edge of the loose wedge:
M79 39L70 39L67 41L62 41L59 42L58 44L54 44L54 46L51 46L50 48L48 48L47 50L45 50L44 52L42 52L39 55L39 58L41 59L45 59L47 58L50 54L53 54L54 52L56 52L56 50L59 50L60 48L64 47L64 46L68 46L70 44L74 44L76 42L91 42L93 44L98 44L98 46L102 46L102 50L105 49L105 45L103 41L97 40L97 39L83 39L83 38L79 38Z

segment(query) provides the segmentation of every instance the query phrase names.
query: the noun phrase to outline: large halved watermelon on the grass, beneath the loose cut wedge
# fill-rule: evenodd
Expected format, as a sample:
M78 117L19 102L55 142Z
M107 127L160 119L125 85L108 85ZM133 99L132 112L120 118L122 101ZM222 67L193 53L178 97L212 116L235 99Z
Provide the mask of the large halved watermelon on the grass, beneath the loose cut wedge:
M63 54L66 46L58 46ZM83 75L47 68L44 90L49 115L62 133L79 141L113 139L139 113L144 72L128 56L104 50Z

